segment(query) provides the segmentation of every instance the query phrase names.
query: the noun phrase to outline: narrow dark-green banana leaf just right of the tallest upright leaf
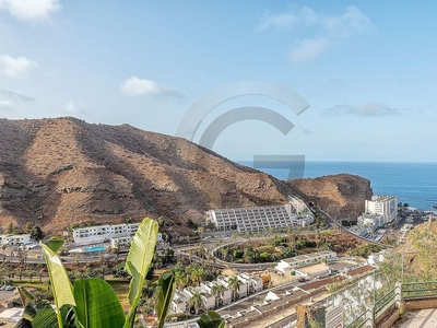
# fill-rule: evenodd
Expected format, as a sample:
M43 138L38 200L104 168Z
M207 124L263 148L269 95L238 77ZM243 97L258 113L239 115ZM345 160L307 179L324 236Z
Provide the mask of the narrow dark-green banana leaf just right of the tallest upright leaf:
M173 295L175 294L176 284L175 277L172 271L164 272L161 274L160 280L160 292L157 294L156 302L156 315L157 315L157 328L164 327L165 317L167 316L168 309L172 304Z

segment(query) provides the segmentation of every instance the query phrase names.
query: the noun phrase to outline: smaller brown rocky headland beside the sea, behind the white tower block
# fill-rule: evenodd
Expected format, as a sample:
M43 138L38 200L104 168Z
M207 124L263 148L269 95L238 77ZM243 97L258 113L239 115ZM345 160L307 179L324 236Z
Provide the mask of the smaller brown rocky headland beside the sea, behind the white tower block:
M356 219L364 212L364 200L373 195L370 180L349 174L288 180L287 185L293 194L315 202L332 218Z

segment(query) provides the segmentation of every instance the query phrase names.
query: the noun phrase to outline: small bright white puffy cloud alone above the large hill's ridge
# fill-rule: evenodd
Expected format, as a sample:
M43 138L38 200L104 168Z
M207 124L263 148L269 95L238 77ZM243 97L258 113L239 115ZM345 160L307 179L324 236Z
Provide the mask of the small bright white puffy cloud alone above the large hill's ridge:
M128 95L179 95L176 91L168 89L155 81L131 77L120 85L121 92Z

